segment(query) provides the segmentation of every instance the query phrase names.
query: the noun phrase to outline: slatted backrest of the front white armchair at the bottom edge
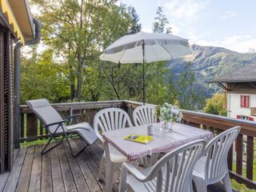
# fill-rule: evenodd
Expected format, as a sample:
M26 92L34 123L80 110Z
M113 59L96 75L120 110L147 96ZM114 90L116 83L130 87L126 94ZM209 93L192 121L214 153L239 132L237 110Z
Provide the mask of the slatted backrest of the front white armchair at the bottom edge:
M192 172L205 145L206 141L200 139L170 151L158 160L145 180L156 178L154 191L192 192Z

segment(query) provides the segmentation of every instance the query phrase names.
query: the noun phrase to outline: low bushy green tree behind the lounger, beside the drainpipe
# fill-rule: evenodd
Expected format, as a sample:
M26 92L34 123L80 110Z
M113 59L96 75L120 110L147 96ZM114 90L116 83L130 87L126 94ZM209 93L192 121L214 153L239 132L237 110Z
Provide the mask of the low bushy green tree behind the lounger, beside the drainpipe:
M30 57L22 56L21 103L37 98L48 98L50 102L68 100L70 90L65 69L54 62L52 50L38 54L36 48L33 46L26 52Z

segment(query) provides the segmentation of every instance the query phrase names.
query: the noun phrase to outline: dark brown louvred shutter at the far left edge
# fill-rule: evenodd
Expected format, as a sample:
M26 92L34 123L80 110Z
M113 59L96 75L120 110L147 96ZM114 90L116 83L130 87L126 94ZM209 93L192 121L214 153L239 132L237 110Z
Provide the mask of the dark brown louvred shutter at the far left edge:
M14 68L10 32L0 30L0 173L13 166Z

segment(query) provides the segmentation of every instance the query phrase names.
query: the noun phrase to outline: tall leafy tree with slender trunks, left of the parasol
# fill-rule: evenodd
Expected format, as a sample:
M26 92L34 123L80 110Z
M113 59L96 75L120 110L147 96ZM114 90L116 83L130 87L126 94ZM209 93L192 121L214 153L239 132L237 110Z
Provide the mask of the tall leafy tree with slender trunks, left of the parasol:
M62 59L68 72L70 99L95 98L94 86L99 81L90 78L99 76L90 76L91 71L98 73L101 51L128 33L131 18L127 7L109 0L33 1L40 10L43 43L54 50L55 58Z

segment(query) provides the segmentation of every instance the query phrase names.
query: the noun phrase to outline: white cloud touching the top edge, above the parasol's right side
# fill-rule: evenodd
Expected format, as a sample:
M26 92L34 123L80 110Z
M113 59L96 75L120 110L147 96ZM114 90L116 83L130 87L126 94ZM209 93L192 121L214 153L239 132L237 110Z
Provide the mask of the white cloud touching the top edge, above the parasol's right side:
M199 0L173 0L164 5L167 14L173 18L191 18L202 10L208 1Z

